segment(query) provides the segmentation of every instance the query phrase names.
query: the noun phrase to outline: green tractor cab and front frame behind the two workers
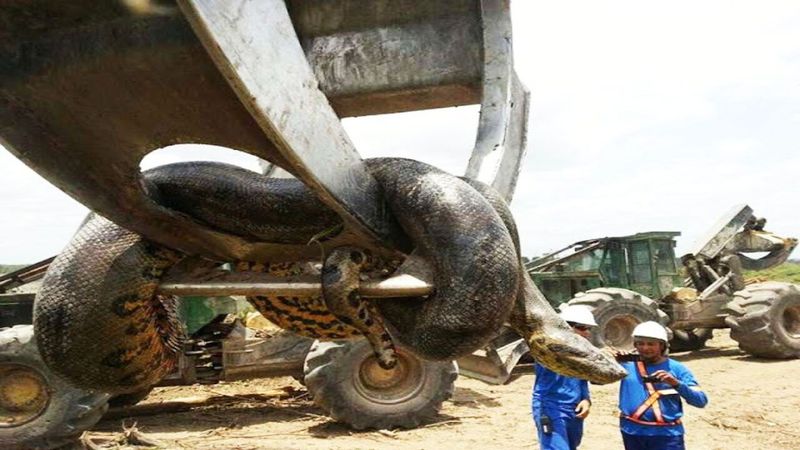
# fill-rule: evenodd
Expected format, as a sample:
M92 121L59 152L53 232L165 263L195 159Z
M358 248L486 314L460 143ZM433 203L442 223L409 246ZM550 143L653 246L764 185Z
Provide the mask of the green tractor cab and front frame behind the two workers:
M682 286L675 260L679 232L654 231L576 242L525 267L553 306L578 292L619 287L661 298Z

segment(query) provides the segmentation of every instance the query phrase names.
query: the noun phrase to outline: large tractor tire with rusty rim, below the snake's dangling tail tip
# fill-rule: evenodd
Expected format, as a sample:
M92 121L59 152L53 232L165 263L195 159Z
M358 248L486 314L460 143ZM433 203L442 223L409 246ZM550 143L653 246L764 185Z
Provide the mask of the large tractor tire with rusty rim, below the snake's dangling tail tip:
M453 395L454 361L420 359L398 348L397 366L378 365L366 340L320 342L306 357L305 382L314 403L357 430L414 428Z

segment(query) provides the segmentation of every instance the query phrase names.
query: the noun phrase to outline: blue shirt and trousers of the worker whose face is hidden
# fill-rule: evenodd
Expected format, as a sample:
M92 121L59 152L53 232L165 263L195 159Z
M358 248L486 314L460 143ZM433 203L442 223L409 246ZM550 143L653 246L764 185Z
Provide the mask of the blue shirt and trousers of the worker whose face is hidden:
M575 450L583 437L583 419L575 417L575 407L581 400L590 400L589 383L559 375L536 364L533 385L533 420L543 450ZM591 400L590 400L591 401ZM550 418L553 432L544 434L542 416Z

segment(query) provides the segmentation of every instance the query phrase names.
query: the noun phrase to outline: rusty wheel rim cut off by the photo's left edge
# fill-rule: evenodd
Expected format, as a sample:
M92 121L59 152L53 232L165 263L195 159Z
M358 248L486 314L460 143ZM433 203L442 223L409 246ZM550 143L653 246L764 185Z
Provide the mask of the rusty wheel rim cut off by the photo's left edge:
M17 427L39 417L50 401L47 381L20 364L0 365L0 427Z

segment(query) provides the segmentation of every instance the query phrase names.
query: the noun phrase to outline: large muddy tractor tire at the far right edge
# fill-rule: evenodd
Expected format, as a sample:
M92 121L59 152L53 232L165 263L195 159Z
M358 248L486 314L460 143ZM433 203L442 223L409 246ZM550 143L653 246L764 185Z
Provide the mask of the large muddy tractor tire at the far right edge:
M770 281L733 294L725 323L739 348L764 358L800 357L800 286Z

